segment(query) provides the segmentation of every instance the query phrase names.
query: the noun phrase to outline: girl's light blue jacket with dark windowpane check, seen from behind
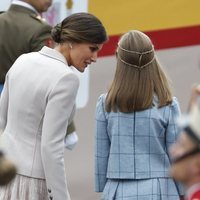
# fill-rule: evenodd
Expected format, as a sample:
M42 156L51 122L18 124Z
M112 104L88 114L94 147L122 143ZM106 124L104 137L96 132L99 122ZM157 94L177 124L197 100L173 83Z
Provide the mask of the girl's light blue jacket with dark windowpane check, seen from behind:
M170 177L169 147L178 137L177 99L170 105L133 112L105 112L105 97L96 106L95 190L107 179Z

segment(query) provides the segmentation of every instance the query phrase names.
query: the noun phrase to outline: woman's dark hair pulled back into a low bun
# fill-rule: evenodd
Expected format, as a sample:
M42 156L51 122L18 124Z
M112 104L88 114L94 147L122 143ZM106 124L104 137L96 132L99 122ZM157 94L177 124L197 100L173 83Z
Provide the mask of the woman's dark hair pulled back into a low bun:
M66 17L51 31L57 43L104 43L108 37L101 21L90 13L75 13Z

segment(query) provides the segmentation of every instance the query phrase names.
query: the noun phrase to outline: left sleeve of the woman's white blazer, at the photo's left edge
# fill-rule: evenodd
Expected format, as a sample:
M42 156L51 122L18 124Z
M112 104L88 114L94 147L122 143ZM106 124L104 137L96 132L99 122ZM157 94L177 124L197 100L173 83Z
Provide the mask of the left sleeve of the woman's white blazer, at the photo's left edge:
M8 114L8 74L6 75L3 90L0 96L0 134L6 127Z

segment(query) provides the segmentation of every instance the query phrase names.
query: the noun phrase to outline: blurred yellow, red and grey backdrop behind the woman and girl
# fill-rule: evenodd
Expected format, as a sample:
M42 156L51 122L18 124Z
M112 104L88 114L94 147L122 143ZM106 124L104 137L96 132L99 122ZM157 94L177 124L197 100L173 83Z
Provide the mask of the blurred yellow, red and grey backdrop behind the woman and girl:
M10 3L10 0L1 0L0 11L7 10ZM43 14L54 25L71 13L90 12L101 19L109 34L97 63L84 74L76 72L81 81L75 116L79 143L73 151L65 153L72 200L100 197L94 191L95 105L114 76L119 37L128 30L138 29L152 39L156 55L171 78L174 95L185 113L190 89L200 82L199 8L198 0L53 0L48 12Z

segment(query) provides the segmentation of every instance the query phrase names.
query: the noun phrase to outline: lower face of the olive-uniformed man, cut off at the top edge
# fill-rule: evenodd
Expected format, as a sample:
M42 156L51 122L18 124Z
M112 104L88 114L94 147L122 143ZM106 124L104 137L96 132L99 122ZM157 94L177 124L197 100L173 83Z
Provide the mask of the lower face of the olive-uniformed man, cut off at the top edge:
M52 5L52 0L25 0L32 5L39 13L46 12Z

